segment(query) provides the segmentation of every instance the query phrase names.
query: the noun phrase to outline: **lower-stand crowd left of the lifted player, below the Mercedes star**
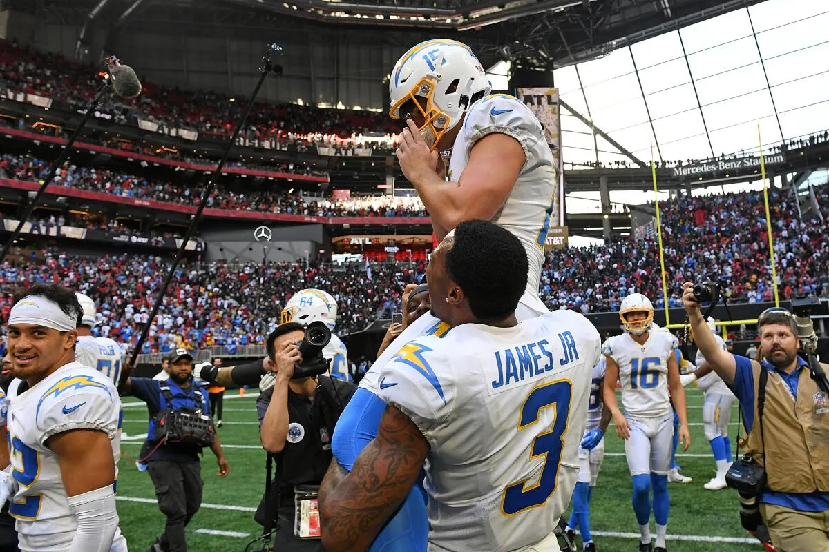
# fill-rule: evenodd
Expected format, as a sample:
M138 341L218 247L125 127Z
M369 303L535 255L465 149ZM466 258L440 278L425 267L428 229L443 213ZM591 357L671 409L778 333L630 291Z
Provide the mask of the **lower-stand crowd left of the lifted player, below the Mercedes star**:
M7 319L18 286L60 284L95 299L95 333L125 344L138 339L170 266L160 257L135 255L90 258L44 251L38 257L0 266L2 319ZM293 292L305 287L321 287L337 299L337 332L349 334L400 310L400 290L422 281L424 273L422 264L377 264L369 277L365 265L182 263L144 351L214 345L232 350L262 342Z

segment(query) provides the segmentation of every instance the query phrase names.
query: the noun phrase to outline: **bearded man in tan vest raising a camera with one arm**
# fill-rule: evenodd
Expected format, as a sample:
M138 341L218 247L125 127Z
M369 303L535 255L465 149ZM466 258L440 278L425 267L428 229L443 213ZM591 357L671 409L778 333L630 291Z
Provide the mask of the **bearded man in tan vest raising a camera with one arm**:
M733 355L717 346L693 287L686 282L682 300L696 345L739 400L748 432L748 458L726 476L740 493L744 527L759 524L747 516L759 499L777 550L829 552L829 402L797 355L797 321L787 310L765 311L757 322L764 358Z

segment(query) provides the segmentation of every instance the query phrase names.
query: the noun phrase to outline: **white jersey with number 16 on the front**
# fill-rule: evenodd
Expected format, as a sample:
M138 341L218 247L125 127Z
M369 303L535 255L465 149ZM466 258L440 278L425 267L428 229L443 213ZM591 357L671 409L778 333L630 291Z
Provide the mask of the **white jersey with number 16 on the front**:
M615 335L602 345L602 354L613 358L622 382L625 415L659 418L671 412L668 395L668 358L679 341L668 332L649 332L640 345L629 334Z

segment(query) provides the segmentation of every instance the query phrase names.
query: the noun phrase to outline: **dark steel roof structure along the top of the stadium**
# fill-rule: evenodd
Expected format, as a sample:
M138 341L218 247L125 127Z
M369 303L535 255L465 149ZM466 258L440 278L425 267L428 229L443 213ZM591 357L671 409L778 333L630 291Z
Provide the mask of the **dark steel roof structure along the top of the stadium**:
M324 36L324 28L359 31L357 41L408 47L437 37L466 42L484 65L524 60L561 67L704 21L760 0L5 0L41 21L83 24L111 16L124 25L267 26ZM374 32L366 32L371 29Z

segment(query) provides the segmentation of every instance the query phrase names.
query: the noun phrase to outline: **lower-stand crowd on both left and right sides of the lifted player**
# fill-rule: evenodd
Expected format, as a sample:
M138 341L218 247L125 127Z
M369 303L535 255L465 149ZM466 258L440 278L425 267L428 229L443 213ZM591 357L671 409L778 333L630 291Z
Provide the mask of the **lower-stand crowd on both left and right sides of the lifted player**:
M818 186L819 203L829 201L829 185ZM789 190L771 190L774 247L781 298L829 296L829 234L820 218L800 222ZM662 203L668 303L681 305L681 283L711 276L724 283L732 302L772 299L768 234L761 192L679 198ZM825 214L826 215L826 214ZM98 331L129 343L137 338L152 308L154 290L167 273L160 257L109 256L102 260L47 253L43 261L0 266L0 313L8 293L37 281L77 286L99 301ZM327 290L340 306L337 331L364 329L377 317L400 309L400 290L424 277L422 262L375 263L371 278L363 263L279 263L182 266L167 293L148 350L185 343L235 347L255 343L278 320L291 294L305 287ZM118 294L115 291L118 290ZM548 252L541 298L551 309L583 313L618 310L633 292L661 307L662 278L657 242L646 238L588 248Z

